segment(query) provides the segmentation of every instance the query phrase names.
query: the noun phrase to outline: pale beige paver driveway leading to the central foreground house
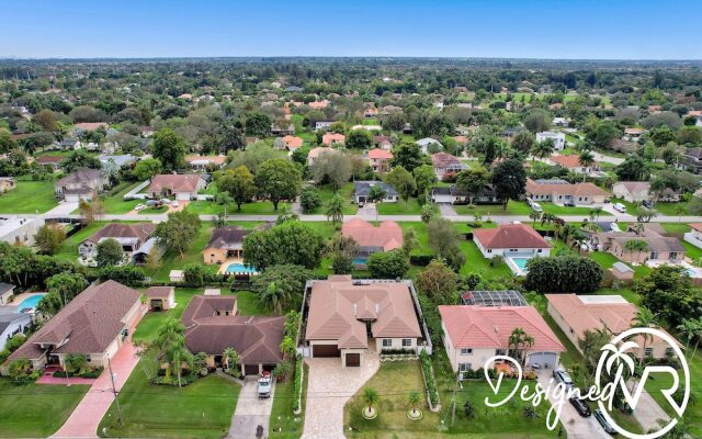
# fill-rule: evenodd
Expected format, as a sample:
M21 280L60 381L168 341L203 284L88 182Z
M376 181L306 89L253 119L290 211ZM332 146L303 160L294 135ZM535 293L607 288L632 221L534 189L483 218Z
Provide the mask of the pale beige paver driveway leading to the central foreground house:
M307 405L303 439L342 439L343 406L378 370L375 344L369 340L360 368L342 368L339 358L308 358Z

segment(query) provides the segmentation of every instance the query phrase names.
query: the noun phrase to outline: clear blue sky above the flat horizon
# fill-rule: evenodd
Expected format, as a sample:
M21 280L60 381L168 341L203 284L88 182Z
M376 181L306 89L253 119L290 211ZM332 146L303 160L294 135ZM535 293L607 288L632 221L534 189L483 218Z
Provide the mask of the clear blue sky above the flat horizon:
M700 0L3 3L3 57L702 59Z

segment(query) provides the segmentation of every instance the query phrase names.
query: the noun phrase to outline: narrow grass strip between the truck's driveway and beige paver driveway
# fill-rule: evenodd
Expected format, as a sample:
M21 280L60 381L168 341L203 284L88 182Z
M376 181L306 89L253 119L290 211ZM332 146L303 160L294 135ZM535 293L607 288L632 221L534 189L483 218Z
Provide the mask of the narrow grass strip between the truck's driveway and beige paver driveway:
M295 395L295 383L293 378L275 383L275 394L273 395L273 408L271 409L271 420L269 423L269 438L271 439L297 439L303 434L305 426L305 405L307 404L307 365L304 365L303 373L303 396L302 413L295 415L293 405ZM280 429L280 430L279 430Z

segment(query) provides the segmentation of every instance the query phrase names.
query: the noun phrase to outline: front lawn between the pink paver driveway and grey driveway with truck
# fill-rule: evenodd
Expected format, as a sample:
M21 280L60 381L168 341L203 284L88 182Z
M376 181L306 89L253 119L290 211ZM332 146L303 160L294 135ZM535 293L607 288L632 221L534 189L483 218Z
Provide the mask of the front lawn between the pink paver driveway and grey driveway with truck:
M144 360L143 360L144 361ZM149 384L140 364L120 392L124 427L113 403L98 431L107 437L222 438L237 405L239 385L208 375L184 387Z

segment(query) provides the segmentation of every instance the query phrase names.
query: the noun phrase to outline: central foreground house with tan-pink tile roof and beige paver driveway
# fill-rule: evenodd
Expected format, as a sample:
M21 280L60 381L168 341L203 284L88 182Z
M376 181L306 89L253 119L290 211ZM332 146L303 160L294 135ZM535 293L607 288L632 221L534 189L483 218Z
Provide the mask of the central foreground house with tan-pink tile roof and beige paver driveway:
M423 349L421 309L410 281L330 275L308 282L305 295L305 356L340 357L342 367L360 367L367 349Z

